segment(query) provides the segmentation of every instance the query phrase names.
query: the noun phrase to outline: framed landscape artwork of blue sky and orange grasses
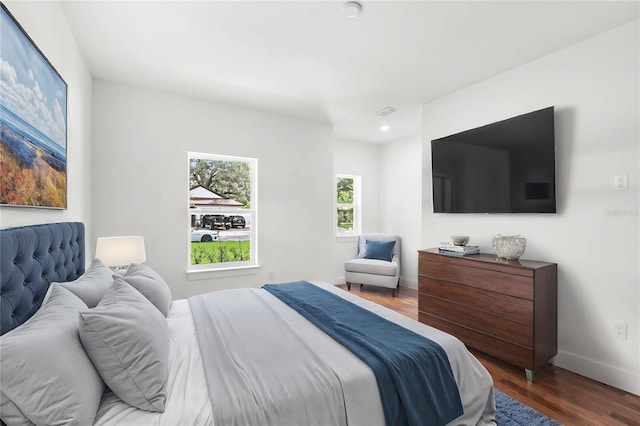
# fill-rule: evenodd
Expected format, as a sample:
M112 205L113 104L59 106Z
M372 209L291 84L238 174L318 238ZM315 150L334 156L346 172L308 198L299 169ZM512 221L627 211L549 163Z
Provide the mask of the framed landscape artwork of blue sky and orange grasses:
M67 208L67 83L0 11L0 206Z

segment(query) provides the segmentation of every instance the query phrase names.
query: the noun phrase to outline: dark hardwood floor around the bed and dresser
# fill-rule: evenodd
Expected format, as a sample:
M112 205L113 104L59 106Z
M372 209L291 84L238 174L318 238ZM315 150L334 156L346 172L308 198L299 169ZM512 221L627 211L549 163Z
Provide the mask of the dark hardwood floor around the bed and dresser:
M340 285L346 290L345 285ZM351 293L379 303L415 320L418 292L401 287L395 298L388 289L353 285ZM640 396L547 364L536 371L534 383L524 370L473 351L493 377L496 389L567 426L640 426Z

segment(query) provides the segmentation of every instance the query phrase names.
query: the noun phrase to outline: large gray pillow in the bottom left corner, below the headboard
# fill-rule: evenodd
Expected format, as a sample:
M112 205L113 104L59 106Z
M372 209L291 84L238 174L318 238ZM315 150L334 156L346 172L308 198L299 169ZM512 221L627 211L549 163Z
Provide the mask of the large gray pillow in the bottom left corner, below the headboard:
M0 418L7 424L89 425L104 383L78 338L87 306L55 286L26 323L0 337Z

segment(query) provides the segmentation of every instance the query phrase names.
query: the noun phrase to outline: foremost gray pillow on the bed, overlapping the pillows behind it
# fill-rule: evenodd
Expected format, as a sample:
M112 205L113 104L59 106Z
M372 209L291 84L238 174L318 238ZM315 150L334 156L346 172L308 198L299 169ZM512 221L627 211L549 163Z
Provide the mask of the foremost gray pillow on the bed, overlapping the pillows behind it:
M113 393L142 410L164 412L169 327L140 292L116 278L98 306L80 312L80 340Z

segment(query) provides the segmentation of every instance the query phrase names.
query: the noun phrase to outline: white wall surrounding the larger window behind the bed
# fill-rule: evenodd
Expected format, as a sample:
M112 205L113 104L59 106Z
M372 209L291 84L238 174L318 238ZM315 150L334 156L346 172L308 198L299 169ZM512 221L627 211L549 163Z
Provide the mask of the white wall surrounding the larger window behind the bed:
M143 235L174 298L260 286L271 273L332 280L331 126L105 81L93 94L96 236ZM187 278L188 151L258 159L255 274Z

